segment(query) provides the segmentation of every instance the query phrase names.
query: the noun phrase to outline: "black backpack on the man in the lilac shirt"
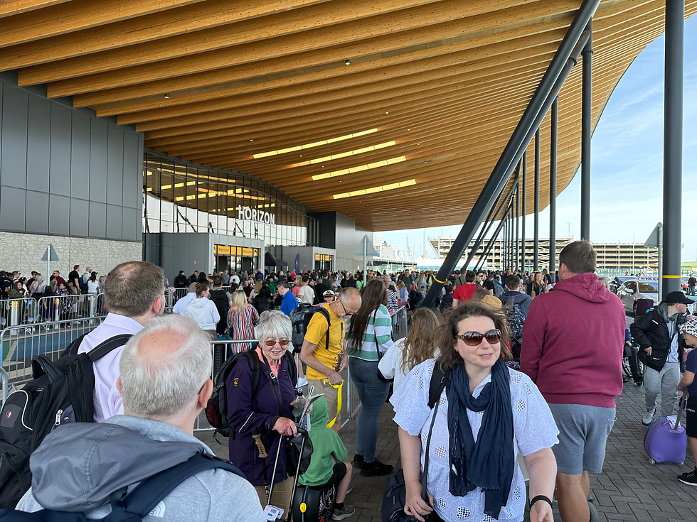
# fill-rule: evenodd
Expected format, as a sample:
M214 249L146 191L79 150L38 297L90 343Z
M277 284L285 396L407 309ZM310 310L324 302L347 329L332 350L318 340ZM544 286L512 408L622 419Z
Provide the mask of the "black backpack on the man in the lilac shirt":
M85 334L86 335L86 334ZM78 354L83 337L70 343L60 359L31 361L33 380L10 394L0 410L0 508L14 509L31 486L29 456L53 428L95 418L92 364L122 347L130 334L117 335L89 353Z

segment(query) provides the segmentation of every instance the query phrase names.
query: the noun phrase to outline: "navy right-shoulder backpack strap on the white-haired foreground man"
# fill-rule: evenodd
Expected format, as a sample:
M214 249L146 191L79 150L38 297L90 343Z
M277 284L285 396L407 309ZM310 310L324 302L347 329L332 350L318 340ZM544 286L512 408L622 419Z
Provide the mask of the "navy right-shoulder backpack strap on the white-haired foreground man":
M154 474L149 479L145 479L133 491L124 496L121 501L112 498L114 519L119 520L119 515L123 514L118 513L119 511L136 513L140 518L145 518L162 499L174 491L186 479L207 469L218 468L225 469L225 471L246 480L245 474L235 467L232 462L203 453L196 453L196 455L181 462L181 464L177 464L174 467ZM110 517L111 514L105 518L105 521L109 521Z

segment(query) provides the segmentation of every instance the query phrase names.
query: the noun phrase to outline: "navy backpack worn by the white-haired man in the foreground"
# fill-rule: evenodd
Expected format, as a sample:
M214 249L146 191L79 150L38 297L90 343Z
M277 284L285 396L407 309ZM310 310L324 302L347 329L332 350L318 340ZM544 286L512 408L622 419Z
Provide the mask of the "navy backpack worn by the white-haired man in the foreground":
M235 467L235 464L227 460L219 459L196 453L188 460L176 464L169 469L164 469L152 477L145 479L135 489L127 493L127 488L114 491L111 495L112 511L102 522L140 522L155 508L159 502L169 495L177 486L193 475L206 471L206 469L225 469L243 479L247 479L243 472ZM43 509L36 513L24 511L12 511L0 509L0 521L2 522L87 522L84 513L71 511L53 511Z

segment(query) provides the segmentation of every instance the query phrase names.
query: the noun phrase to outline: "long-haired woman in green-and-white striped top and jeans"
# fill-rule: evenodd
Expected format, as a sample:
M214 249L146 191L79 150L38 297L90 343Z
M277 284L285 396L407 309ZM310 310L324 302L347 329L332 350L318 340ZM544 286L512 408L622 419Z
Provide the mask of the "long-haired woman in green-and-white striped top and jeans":
M361 290L360 310L346 325L349 374L362 405L356 420L353 464L361 468L364 477L392 472L392 466L375 458L378 419L390 391L390 383L378 377L378 361L393 344L387 300L387 288L383 282L371 279Z

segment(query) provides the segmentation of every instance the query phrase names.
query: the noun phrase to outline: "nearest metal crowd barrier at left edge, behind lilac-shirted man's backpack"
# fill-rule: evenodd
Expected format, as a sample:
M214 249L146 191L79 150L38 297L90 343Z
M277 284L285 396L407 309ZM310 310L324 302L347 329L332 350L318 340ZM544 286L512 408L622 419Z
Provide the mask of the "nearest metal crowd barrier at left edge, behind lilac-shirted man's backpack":
M0 331L0 347L2 369L8 383L17 385L31 381L31 359L46 355L55 361L68 344L95 329L101 322L101 317L87 317L6 327ZM7 389L4 385L3 379L3 394Z

